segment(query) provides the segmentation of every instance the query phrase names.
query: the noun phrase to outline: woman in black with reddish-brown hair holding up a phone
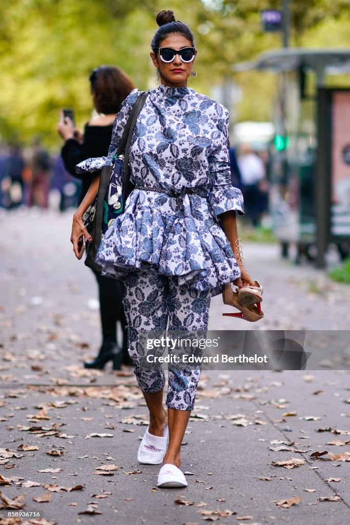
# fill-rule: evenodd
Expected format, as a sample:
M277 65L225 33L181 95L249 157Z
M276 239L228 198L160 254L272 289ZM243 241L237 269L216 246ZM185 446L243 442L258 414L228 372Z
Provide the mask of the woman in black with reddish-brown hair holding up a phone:
M134 89L131 79L119 68L100 66L89 77L93 106L98 115L92 118L81 134L68 117L61 113L58 132L65 141L61 155L66 169L82 181L79 202L88 191L94 178L91 173L77 174L76 164L90 158L107 155L111 142L113 122L123 100ZM120 369L121 363L132 364L128 353L128 332L123 299L123 283L119 280L103 277L94 272L100 299L102 325L102 344L99 353L91 362L85 362L86 368L103 369L108 361L113 362L113 369ZM122 329L122 350L116 342L116 324Z

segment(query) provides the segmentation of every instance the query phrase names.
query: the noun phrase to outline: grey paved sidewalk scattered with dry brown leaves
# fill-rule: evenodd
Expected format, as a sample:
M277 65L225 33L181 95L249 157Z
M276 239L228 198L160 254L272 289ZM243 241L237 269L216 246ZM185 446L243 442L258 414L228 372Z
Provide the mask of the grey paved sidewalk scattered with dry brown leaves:
M159 466L136 460L147 411L132 370L82 368L100 342L97 287L73 256L70 215L0 219L3 497L25 495L22 510L45 525L348 523L348 371L203 372L182 450L188 487L156 488ZM348 329L350 299L323 272L281 261L274 245L244 249L267 317L242 326L217 297L209 328ZM272 463L291 458L300 465Z

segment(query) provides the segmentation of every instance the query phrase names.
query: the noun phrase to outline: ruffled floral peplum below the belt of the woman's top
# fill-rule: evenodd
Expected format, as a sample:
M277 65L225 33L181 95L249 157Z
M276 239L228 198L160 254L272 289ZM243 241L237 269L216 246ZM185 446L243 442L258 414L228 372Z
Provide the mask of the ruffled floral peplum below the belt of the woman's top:
M103 275L122 278L129 270L154 270L177 276L179 286L211 289L213 295L238 278L231 246L207 199L186 194L182 208L163 193L133 190L99 247L96 261Z

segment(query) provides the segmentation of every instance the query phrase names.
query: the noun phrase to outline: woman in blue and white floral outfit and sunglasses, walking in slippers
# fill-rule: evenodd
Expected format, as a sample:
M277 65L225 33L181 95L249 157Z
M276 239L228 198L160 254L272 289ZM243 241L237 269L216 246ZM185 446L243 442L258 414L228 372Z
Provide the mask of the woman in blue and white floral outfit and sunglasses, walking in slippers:
M142 366L139 336L145 330L165 331L167 324L168 330L205 331L210 297L225 283L253 281L237 251L236 213L243 213L243 202L230 180L228 111L187 87L189 76L195 76L192 31L176 22L172 11L158 13L156 20L160 28L151 57L160 85L149 91L134 128L129 163L135 188L105 234L97 261L105 274L124 279L129 353L150 411L137 457L140 463L163 461L158 486L183 487L180 449L200 372L169 370L165 411L164 372ZM112 164L138 95L130 93L115 119L108 156L79 164L79 171ZM82 214L98 183L99 176L73 217L77 257L79 238L91 239Z

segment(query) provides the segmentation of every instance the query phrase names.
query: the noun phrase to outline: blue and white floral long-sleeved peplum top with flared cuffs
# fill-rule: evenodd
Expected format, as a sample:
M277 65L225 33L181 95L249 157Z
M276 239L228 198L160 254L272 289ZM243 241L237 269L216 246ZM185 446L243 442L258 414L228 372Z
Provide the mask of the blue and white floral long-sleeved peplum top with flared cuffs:
M138 96L134 89L123 102L108 156L81 162L78 173L112 165ZM221 285L240 276L218 219L229 210L243 214L242 194L231 184L228 134L229 113L218 102L188 87L161 84L150 90L130 148L135 189L97 254L104 275L125 277L131 270L133 275L139 271L144 280L146 274L150 278L156 274L176 280L188 293L206 292L206 297L217 295ZM129 351L135 360L137 351ZM144 385L143 381L143 390Z

